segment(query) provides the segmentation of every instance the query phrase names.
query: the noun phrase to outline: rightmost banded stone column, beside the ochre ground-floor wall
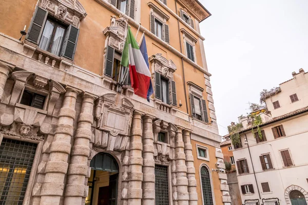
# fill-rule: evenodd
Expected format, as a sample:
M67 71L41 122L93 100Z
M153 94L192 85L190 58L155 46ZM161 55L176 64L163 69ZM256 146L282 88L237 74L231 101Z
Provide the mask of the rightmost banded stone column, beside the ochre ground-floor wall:
M190 131L183 130L184 152L186 155L187 179L188 179L188 194L189 205L198 204L196 171L194 167L194 156L192 156L192 146L190 142Z

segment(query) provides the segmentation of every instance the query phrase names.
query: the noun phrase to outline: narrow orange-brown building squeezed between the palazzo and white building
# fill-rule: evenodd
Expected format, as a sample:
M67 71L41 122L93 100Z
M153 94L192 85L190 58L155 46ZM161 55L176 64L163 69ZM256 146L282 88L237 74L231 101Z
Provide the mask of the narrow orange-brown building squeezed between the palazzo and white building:
M231 145L231 140L228 136L224 136L223 139L224 141L220 144L220 148L223 153L223 159L225 162L231 163L231 170L228 172L226 171L228 178L227 183L229 186L229 194L231 197L231 205L239 205L242 204L242 200L237 180L235 160L233 156L233 147Z

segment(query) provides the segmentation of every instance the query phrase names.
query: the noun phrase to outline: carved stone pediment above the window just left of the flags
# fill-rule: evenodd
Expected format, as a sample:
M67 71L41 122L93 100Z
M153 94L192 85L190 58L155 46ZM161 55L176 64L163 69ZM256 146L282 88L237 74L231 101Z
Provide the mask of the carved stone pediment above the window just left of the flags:
M105 52L107 46L115 48L115 50L122 53L124 47L125 27L127 25L127 17L123 14L120 18L116 16L111 17L110 26L104 30L106 36Z

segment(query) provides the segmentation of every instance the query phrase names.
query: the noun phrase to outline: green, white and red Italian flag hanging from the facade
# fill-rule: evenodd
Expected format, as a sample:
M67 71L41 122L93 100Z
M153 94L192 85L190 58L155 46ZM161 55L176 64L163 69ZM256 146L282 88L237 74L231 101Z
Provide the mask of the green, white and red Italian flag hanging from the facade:
M150 86L151 73L129 27L122 52L121 65L127 68L129 66L131 87L134 94L146 98Z

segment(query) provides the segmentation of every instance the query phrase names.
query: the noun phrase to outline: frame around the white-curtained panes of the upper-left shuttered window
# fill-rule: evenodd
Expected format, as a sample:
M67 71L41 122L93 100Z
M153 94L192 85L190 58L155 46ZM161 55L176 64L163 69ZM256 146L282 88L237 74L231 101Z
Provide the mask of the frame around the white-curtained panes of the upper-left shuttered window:
M47 24L48 21L54 23L54 28L53 28L53 30L51 32L51 38L50 38L50 42L49 42L49 45L48 45L48 49L44 50L44 49L40 48L40 44L42 42L43 34L44 34L44 31L45 31L45 28L46 28L46 24ZM54 34L55 34L56 29L57 29L57 26L60 26L60 27L64 28L64 30L65 30L64 34L63 34L63 39L62 39L61 49L60 49L59 55L51 53L51 48L52 48L52 45L53 45ZM44 24L44 27L43 27L42 35L41 35L40 40L39 40L40 43L37 45L38 48L43 50L43 51L46 51L48 53L51 53L52 55L61 57L62 53L63 53L63 46L64 46L64 42L65 42L65 37L66 37L66 34L68 32L68 27L69 27L68 25L62 23L59 19L56 19L56 18L54 18L54 17L52 17L52 16L50 16L48 14L47 18L46 18L46 21L45 21L45 24Z

